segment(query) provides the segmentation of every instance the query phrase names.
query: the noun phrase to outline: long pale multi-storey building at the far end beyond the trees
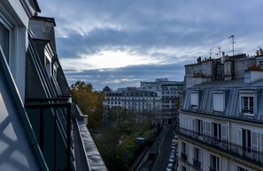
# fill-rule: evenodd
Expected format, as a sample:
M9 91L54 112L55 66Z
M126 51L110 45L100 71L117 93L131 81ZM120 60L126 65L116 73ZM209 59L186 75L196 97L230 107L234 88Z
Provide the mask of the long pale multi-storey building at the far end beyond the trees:
M135 113L151 112L159 123L174 123L182 97L183 83L158 78L153 82L141 82L140 87L119 88L116 91L106 86L104 92L108 108L123 107Z

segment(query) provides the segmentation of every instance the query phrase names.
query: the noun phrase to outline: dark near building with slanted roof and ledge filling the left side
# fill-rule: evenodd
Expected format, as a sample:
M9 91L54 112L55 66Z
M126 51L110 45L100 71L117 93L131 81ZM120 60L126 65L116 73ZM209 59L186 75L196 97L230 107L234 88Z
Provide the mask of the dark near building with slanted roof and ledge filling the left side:
M106 170L71 101L55 20L37 12L36 0L0 1L0 170Z

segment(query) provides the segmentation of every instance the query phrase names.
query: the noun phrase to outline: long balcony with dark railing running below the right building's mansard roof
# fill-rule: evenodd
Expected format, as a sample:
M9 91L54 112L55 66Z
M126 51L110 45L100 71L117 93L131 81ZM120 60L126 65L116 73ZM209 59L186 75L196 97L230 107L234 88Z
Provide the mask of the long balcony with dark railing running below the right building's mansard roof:
M263 152L259 152L251 147L245 147L242 145L236 145L228 142L224 139L214 138L207 136L197 131L187 130L184 128L177 127L175 132L185 138L193 139L200 144L213 147L220 152L226 152L228 155L232 155L236 158L241 158L253 164L263 167Z

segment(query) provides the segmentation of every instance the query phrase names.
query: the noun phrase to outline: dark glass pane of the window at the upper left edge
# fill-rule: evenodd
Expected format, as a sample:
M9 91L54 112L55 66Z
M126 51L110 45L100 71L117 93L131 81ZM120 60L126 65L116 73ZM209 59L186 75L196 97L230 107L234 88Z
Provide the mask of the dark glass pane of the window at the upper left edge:
M0 23L0 46L6 61L9 62L9 31Z

